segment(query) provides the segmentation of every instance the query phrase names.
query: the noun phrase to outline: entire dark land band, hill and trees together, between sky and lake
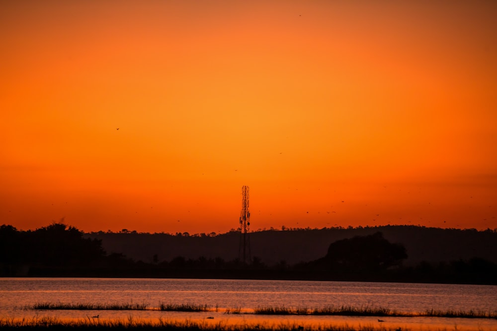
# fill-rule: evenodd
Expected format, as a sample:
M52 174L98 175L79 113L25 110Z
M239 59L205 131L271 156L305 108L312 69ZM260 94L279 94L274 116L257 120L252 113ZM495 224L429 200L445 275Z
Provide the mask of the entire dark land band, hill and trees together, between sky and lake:
M0 225L0 276L301 279L497 284L497 231L409 226L240 232L84 234L53 223ZM411 257L410 264L408 256Z

